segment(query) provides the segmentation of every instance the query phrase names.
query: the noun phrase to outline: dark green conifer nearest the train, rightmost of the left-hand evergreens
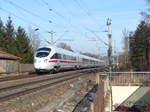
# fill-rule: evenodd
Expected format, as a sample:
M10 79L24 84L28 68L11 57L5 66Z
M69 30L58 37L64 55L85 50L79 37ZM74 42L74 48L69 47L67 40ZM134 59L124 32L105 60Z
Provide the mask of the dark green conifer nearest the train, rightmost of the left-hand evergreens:
M18 27L16 32L16 48L17 56L20 56L21 63L32 63L33 62L33 51L30 45L30 40L22 27Z

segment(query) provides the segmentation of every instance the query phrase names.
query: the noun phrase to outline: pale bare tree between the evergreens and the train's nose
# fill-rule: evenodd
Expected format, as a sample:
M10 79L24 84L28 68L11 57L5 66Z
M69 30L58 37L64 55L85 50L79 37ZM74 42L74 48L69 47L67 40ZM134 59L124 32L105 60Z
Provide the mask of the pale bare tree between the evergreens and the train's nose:
M31 40L31 45L33 47L33 50L35 51L41 44L39 33L37 32L38 29L33 29L32 27L29 27L29 38Z

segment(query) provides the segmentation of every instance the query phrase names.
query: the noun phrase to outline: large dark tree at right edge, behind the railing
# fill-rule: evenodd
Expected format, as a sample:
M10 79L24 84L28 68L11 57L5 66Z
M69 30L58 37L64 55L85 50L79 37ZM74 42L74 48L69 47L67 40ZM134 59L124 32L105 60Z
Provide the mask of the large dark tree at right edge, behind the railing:
M131 63L136 70L142 70L143 64L149 64L147 37L150 37L150 25L141 21L137 30L133 35L130 35L130 54Z

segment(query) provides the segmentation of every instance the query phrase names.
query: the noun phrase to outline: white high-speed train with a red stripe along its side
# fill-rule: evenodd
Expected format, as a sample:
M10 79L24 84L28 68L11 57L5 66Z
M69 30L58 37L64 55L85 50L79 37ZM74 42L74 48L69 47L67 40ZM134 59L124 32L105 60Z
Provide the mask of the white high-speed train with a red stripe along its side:
M34 55L34 68L37 72L97 67L103 63L102 60L55 46L40 47Z

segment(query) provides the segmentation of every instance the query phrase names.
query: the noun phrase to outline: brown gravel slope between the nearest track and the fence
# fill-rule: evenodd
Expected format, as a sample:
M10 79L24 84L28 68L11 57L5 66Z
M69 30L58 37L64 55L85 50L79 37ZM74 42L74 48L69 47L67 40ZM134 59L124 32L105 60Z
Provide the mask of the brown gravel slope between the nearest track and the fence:
M71 112L92 87L90 79L94 79L94 75L82 76L1 102L0 112L54 112L59 109Z

